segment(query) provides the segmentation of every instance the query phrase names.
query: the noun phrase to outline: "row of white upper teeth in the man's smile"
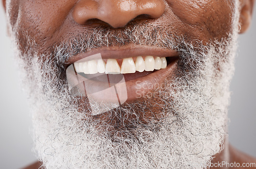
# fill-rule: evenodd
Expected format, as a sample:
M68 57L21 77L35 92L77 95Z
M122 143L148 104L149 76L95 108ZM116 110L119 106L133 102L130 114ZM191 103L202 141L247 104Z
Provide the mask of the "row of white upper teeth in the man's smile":
M108 59L105 63L104 60L92 60L88 62L74 63L74 68L77 73L95 74L125 74L135 73L136 71L153 71L154 69L165 69L167 66L166 58L159 58L153 56L146 56L144 60L142 57L137 57L134 63L133 58L125 58L122 61L121 67L116 59Z

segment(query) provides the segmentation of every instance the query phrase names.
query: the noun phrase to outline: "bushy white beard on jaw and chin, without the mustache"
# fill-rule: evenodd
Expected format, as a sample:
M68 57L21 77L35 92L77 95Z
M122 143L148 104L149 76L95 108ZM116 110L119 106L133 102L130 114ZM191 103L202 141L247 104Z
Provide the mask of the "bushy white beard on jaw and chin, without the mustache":
M237 23L235 16L233 27ZM161 98L161 104L155 106L163 109L165 118L148 128L138 126L136 138L116 136L118 142L112 141L108 130L99 133L97 123L77 110L77 98L65 85L61 89L51 85L58 80L55 68L38 61L41 56L33 56L24 81L33 107L38 159L46 168L207 168L212 156L223 149L226 136L237 32L233 29L221 43L201 46L207 50L200 53L193 53L193 46L187 43L191 49L187 56L196 67L155 91L155 97ZM20 67L26 67L24 64ZM46 78L46 73L52 78ZM132 114L131 107L150 104L147 100L119 110Z

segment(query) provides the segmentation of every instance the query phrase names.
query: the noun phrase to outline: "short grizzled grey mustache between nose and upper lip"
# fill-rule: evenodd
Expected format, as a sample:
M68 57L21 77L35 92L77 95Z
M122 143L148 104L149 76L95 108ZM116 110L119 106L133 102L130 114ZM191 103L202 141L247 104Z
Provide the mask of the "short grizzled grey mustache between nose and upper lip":
M182 53L191 50L191 47L200 46L199 41L188 40L187 37L175 35L172 25L156 26L147 23L133 23L120 29L110 26L93 27L82 34L71 37L62 42L52 52L61 64L79 53L110 46L123 46L126 44L147 45L174 49ZM196 45L192 45L196 44Z

